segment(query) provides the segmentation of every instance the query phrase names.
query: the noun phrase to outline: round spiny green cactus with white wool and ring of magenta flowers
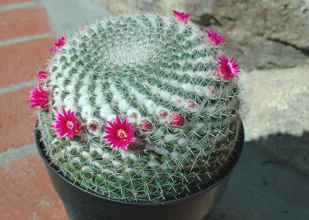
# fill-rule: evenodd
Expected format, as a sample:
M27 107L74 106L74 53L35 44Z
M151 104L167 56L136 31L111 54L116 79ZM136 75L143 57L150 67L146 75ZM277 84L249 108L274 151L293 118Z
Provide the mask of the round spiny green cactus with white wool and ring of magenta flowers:
M241 124L239 69L221 36L177 16L109 18L51 49L28 101L46 155L74 183L157 202L218 179Z

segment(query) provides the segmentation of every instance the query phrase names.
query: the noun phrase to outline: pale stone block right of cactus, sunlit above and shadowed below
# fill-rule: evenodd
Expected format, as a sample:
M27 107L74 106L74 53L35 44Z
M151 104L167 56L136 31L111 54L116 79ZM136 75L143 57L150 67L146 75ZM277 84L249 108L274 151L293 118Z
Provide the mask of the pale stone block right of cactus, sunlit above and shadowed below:
M273 160L309 174L308 65L253 70L239 77L243 84L246 141Z

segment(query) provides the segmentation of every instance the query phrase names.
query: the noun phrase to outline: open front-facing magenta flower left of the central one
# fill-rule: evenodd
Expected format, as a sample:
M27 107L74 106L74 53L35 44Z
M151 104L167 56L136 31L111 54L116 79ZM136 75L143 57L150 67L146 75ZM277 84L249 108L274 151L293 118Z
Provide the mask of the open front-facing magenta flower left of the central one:
M66 135L66 140L69 137L73 138L73 135L78 134L82 129L81 123L74 116L74 111L68 110L66 112L62 107L62 114L56 111L55 118L51 127L56 129L54 135L57 134L57 138L62 138L64 135Z

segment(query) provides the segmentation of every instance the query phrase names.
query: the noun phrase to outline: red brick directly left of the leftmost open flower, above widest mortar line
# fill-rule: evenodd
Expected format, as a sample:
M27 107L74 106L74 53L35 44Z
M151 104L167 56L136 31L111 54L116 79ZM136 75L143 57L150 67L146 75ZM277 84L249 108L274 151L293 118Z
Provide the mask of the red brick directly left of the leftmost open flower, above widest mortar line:
M0 95L0 152L34 142L36 117L27 100L32 87Z

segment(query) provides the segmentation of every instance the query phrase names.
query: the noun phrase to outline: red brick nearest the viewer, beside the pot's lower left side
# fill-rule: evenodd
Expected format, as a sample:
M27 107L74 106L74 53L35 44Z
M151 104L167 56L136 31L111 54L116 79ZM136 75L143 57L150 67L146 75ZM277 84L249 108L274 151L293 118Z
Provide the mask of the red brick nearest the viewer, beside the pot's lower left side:
M68 219L38 153L2 164L0 176L1 219Z

